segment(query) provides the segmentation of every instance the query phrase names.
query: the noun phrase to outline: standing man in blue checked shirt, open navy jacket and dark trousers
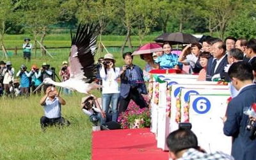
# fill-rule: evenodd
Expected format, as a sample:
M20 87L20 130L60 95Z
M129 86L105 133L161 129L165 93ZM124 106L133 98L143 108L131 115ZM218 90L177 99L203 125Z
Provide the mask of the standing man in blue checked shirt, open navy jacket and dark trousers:
M130 100L140 106L140 108L148 107L141 94L147 94L147 88L143 80L143 71L137 65L132 64L133 56L131 52L123 54L125 65L121 71L120 85L120 106L118 113L122 113L127 109Z

